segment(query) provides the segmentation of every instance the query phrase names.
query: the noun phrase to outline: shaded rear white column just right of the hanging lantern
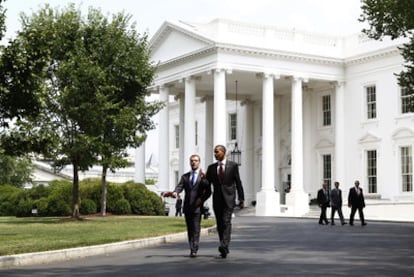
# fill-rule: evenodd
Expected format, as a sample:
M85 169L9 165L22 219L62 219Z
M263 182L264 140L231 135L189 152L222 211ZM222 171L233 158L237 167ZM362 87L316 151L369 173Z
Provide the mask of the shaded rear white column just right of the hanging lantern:
M241 102L240 137L241 166L240 177L243 180L245 204L250 205L255 199L254 188L254 132L253 132L253 103L250 100Z

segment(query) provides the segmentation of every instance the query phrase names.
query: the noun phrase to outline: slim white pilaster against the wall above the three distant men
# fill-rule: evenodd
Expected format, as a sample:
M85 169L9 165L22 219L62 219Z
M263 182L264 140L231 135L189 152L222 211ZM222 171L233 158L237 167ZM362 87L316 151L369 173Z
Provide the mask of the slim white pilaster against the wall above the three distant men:
M345 182L345 83L336 84L335 95L335 181Z

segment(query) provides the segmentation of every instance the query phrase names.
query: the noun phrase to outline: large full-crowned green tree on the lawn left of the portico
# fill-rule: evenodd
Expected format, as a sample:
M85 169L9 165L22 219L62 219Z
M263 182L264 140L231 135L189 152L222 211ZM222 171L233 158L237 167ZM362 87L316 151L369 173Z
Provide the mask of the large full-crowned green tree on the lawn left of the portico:
M80 216L79 171L98 161L122 166L125 147L142 142L158 111L158 103L145 102L155 70L147 37L129 20L121 13L109 21L93 8L85 19L73 4L62 11L45 5L31 17L22 15L22 31L5 49L7 64L20 59L31 76L22 81L8 67L9 83L35 83L40 103L37 114L15 120L2 138L5 149L41 153L56 168L72 165L74 218Z

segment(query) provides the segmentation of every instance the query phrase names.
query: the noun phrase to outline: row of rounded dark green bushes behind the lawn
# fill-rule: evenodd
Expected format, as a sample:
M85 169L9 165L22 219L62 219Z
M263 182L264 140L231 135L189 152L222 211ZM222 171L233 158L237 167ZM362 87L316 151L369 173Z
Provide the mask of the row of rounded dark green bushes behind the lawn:
M80 213L94 214L100 210L102 186L100 179L80 182ZM31 216L37 209L39 216L70 216L72 183L55 180L48 186L31 189L0 185L0 216ZM164 215L162 199L144 184L126 182L107 183L107 211L113 214Z

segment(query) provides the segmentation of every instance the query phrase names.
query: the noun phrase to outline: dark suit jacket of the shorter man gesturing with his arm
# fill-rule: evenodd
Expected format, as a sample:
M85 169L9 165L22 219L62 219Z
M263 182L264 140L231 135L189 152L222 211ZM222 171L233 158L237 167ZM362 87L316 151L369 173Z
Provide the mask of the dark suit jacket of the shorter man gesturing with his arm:
M200 212L200 206L203 205L204 201L206 201L211 195L210 184L205 178L205 174L200 171L194 187L192 187L191 173L192 171L183 174L181 176L180 182L174 189L176 193L181 193L183 190L185 191L183 206L183 211L185 214L190 212ZM197 199L201 200L199 201L198 205L196 204Z

